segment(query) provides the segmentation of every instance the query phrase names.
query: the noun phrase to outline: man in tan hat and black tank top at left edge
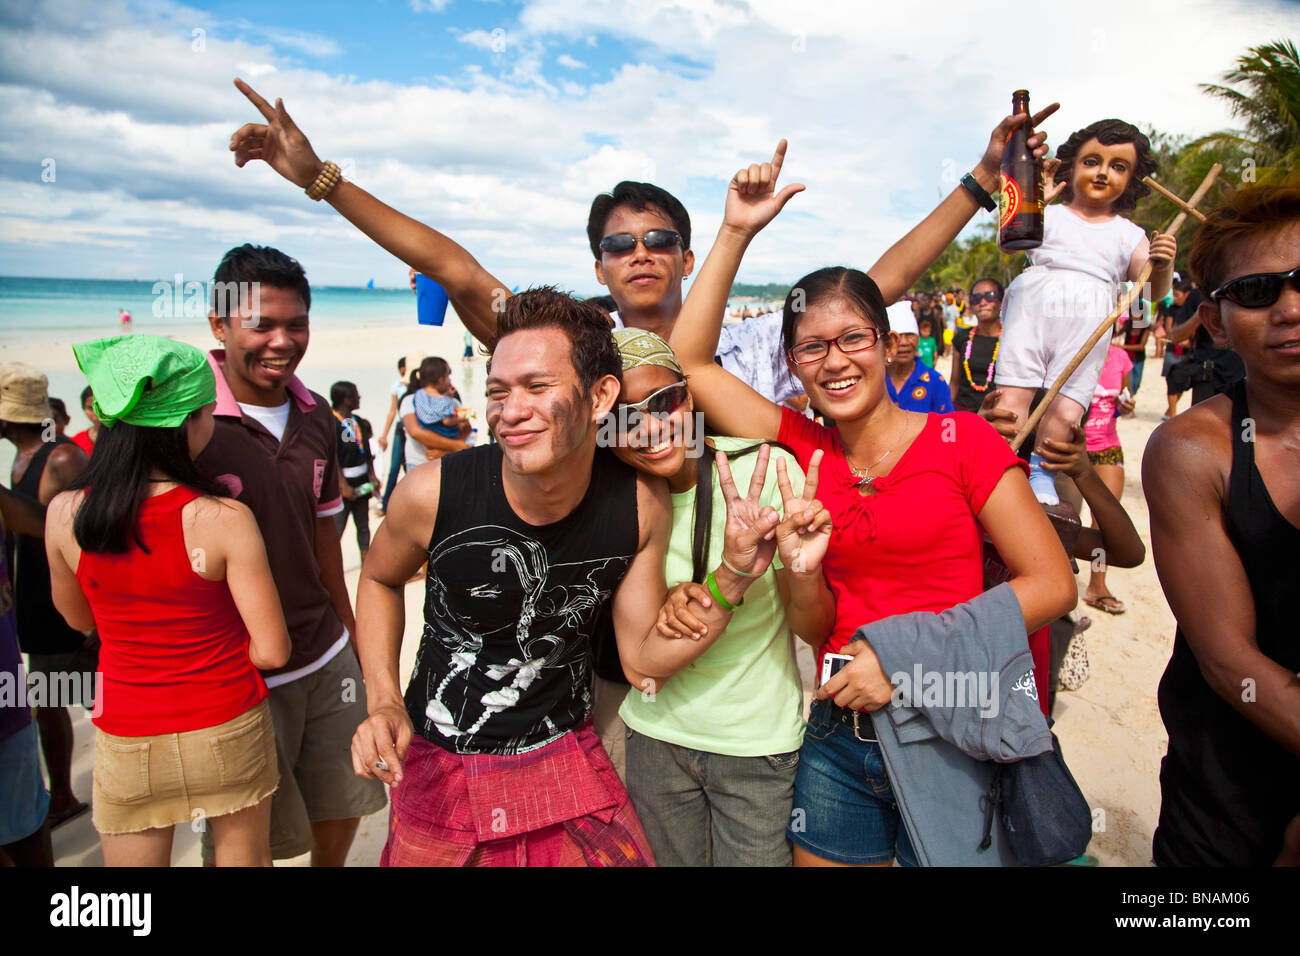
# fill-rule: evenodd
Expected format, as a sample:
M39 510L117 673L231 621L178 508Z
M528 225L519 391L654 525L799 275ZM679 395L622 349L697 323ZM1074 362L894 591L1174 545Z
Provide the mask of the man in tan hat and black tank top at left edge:
M84 451L56 434L47 388L46 376L30 365L14 363L0 371L0 431L17 449L13 493L42 512L87 460ZM40 675L38 683L46 688L81 687L81 680L58 675L92 672L94 657L82 654L86 636L70 628L55 609L43 537L14 535L13 591L18 645L27 654L29 674ZM36 702L36 726L49 771L49 825L56 827L88 809L73 792L73 721L68 705L90 708L91 701L44 704Z

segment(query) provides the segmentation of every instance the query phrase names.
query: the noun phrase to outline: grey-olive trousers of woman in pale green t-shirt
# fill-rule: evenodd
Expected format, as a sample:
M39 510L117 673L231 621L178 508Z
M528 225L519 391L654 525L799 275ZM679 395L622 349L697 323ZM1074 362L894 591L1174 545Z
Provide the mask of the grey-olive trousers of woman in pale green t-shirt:
M729 757L628 728L628 793L659 866L789 866L798 750Z

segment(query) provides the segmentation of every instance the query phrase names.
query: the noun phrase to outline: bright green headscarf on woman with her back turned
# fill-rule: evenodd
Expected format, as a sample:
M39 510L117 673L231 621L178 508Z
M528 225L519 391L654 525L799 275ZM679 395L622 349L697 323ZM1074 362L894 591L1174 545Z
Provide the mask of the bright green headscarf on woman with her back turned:
M73 346L77 364L95 393L104 428L117 421L176 428L195 408L217 401L208 356L161 336L116 336Z

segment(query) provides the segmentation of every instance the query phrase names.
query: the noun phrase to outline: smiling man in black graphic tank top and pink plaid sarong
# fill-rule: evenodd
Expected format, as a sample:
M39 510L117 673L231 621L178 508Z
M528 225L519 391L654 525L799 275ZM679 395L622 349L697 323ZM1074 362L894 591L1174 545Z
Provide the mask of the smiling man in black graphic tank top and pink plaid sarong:
M692 653L655 628L667 485L597 447L621 377L603 313L550 289L516 295L491 351L498 444L407 475L358 585L370 718L352 760L394 784L381 862L642 865L645 835L589 719L590 641L612 606L624 672L647 693ZM403 698L402 588L424 561ZM748 581L718 585L734 605Z

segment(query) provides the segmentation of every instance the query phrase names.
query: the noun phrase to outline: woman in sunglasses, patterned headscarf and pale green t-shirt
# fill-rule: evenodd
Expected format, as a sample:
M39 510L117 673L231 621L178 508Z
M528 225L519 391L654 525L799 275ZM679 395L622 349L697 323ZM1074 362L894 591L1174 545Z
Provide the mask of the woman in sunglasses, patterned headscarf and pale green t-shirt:
M660 866L789 866L785 827L803 737L792 630L820 643L835 617L820 568L831 527L814 499L818 464L805 484L781 449L706 440L668 343L642 329L614 337L623 355L614 453L666 479L672 493L666 574L682 584L660 614L660 632L706 646L666 684L632 688L624 700L628 792ZM725 630L708 632L692 607L728 609L710 587L711 571L727 561L728 501L734 511L736 489L755 485L762 506L784 515L774 538L759 544L771 566Z

